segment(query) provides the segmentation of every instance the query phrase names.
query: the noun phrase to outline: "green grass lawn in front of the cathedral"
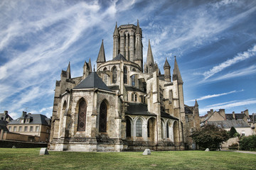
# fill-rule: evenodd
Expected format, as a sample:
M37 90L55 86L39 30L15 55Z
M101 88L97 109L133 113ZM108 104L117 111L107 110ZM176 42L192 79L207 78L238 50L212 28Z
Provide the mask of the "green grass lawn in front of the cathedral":
M256 154L237 152L49 152L0 148L0 169L255 169Z

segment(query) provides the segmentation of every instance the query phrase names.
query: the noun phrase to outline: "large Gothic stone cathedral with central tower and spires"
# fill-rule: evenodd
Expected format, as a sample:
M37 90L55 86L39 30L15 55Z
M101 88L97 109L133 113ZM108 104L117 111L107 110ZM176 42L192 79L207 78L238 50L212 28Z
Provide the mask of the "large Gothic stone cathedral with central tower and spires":
M116 24L112 60L106 61L102 40L96 70L89 60L81 77L71 77L68 64L55 84L50 149L195 149L189 136L200 127L198 103L184 104L176 58L173 74L167 59L161 74L150 42L146 62L142 48L139 21Z

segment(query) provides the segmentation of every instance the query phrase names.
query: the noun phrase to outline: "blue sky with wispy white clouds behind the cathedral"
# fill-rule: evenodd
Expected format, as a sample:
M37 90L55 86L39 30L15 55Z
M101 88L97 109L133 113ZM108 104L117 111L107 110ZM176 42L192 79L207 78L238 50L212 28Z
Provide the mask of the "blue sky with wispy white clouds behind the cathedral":
M52 114L55 81L71 64L82 76L96 64L104 39L112 59L112 33L132 23L143 30L144 61L150 39L164 73L174 55L185 103L200 114L256 113L256 1L0 1L0 113Z

